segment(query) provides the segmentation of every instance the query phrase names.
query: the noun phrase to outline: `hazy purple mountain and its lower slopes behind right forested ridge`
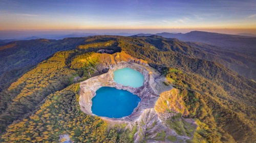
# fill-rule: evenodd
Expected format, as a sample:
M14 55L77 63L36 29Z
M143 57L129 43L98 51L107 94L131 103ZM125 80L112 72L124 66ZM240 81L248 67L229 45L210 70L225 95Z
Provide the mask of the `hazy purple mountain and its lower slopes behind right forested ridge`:
M153 34L138 34L136 36L151 35ZM182 41L192 41L196 42L198 45L202 44L203 46L199 47L203 50L216 53L217 55L223 55L223 58L228 57L237 61L233 63L231 62L233 60L231 60L230 62L233 64L225 64L219 60L216 62L220 62L239 74L255 80L256 38L199 31L186 34L157 33L155 35L165 38L177 38ZM205 60L214 61L207 58Z

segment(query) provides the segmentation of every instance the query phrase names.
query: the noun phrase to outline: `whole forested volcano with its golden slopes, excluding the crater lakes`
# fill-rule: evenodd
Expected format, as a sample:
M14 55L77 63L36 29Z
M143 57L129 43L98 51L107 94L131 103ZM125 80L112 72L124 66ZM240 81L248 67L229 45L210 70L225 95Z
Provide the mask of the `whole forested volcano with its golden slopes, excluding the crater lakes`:
M4 72L0 79L7 82L0 92L0 141L58 142L62 134L77 142L256 140L256 83L227 68L228 64L243 63L228 52L221 53L218 46L155 35L10 44L13 46L0 50ZM249 52L247 49L243 52ZM97 81L92 77L108 72L102 68L117 62L152 68L148 73L154 79L151 87L175 88L157 102L161 122L155 120L152 110L134 124L118 121L113 126L108 119L103 121L81 110L79 83ZM159 75L154 74L157 72Z

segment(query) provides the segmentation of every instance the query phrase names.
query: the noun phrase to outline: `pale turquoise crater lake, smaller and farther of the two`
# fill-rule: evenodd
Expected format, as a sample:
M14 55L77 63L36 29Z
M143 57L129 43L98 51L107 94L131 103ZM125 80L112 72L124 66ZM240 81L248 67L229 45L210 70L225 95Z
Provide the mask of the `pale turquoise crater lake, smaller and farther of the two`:
M114 80L122 85L138 88L143 85L144 76L134 69L123 68L114 71Z

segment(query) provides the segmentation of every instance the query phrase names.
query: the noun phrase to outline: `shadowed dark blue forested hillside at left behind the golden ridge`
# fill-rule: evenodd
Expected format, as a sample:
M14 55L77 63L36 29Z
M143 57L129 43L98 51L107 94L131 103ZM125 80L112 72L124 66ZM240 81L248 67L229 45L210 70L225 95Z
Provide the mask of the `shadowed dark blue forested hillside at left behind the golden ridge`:
M57 51L75 49L86 38L23 40L0 46L0 91ZM15 74L15 75L13 75Z

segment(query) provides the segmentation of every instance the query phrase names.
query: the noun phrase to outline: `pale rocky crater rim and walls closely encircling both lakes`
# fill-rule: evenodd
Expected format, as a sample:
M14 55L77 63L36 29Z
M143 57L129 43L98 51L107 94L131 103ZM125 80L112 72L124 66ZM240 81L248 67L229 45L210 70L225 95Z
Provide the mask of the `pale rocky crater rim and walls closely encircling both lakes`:
M114 81L114 71L122 68L131 68L140 72L144 77L144 82L141 87L133 88L130 86L124 86L122 84L116 83ZM91 110L92 107L92 98L96 95L96 91L101 87L113 87L119 90L126 90L131 92L134 95L137 95L141 101L138 106L134 109L130 116L125 116L121 118L108 118L100 117L101 119L111 120L111 121L135 121L137 120L141 113L148 108L154 108L159 94L161 91L157 90L156 80L160 79L161 74L158 73L155 69L151 68L147 64L137 64L137 63L127 63L127 62L118 62L116 65L109 67L107 73L91 77L85 81L80 82L80 98L79 104L83 112L88 115L94 115ZM169 87L168 90L172 89Z

